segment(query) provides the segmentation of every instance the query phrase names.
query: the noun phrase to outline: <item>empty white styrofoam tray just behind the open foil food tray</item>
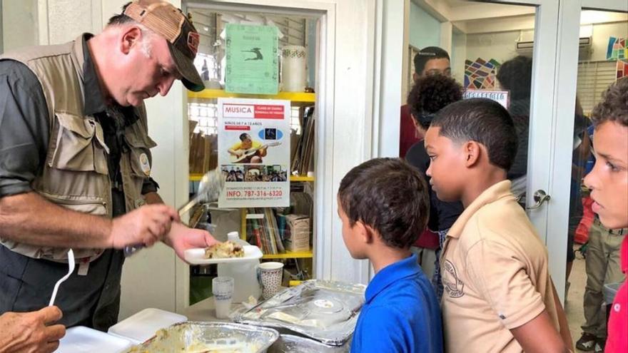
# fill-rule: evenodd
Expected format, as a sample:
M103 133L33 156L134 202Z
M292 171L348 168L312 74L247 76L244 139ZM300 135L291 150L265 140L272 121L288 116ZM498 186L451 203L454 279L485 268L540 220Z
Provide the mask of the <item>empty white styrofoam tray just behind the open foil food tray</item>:
M150 307L114 324L109 327L108 332L138 344L153 337L158 329L164 329L171 324L184 321L188 321L188 318L183 315Z

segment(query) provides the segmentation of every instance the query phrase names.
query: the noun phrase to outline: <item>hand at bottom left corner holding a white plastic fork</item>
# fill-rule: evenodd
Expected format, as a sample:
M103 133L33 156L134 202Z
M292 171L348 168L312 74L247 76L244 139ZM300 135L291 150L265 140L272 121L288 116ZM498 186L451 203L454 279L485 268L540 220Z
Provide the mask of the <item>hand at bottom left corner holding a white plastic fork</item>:
M54 352L66 334L58 307L44 307L36 312L5 312L0 315L0 352Z

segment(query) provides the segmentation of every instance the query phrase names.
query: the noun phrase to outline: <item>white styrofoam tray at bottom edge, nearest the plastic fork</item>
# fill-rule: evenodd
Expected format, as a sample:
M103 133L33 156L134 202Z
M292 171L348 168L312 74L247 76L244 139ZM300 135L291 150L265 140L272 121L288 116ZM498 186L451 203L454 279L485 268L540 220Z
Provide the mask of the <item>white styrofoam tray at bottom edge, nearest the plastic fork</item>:
M128 339L112 336L84 326L71 327L59 341L60 353L118 353L133 344Z

